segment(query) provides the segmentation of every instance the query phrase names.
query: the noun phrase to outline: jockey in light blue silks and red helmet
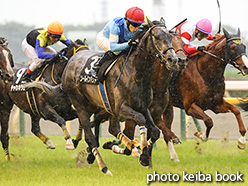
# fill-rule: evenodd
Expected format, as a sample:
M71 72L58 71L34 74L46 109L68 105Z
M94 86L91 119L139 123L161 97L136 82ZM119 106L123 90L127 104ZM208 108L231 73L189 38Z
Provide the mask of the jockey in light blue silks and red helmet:
M144 12L138 7L129 8L125 17L116 17L97 34L97 45L105 52L97 65L101 65L105 59L112 58L129 45L136 44L130 39L137 33L144 23ZM115 54L113 54L113 52Z

